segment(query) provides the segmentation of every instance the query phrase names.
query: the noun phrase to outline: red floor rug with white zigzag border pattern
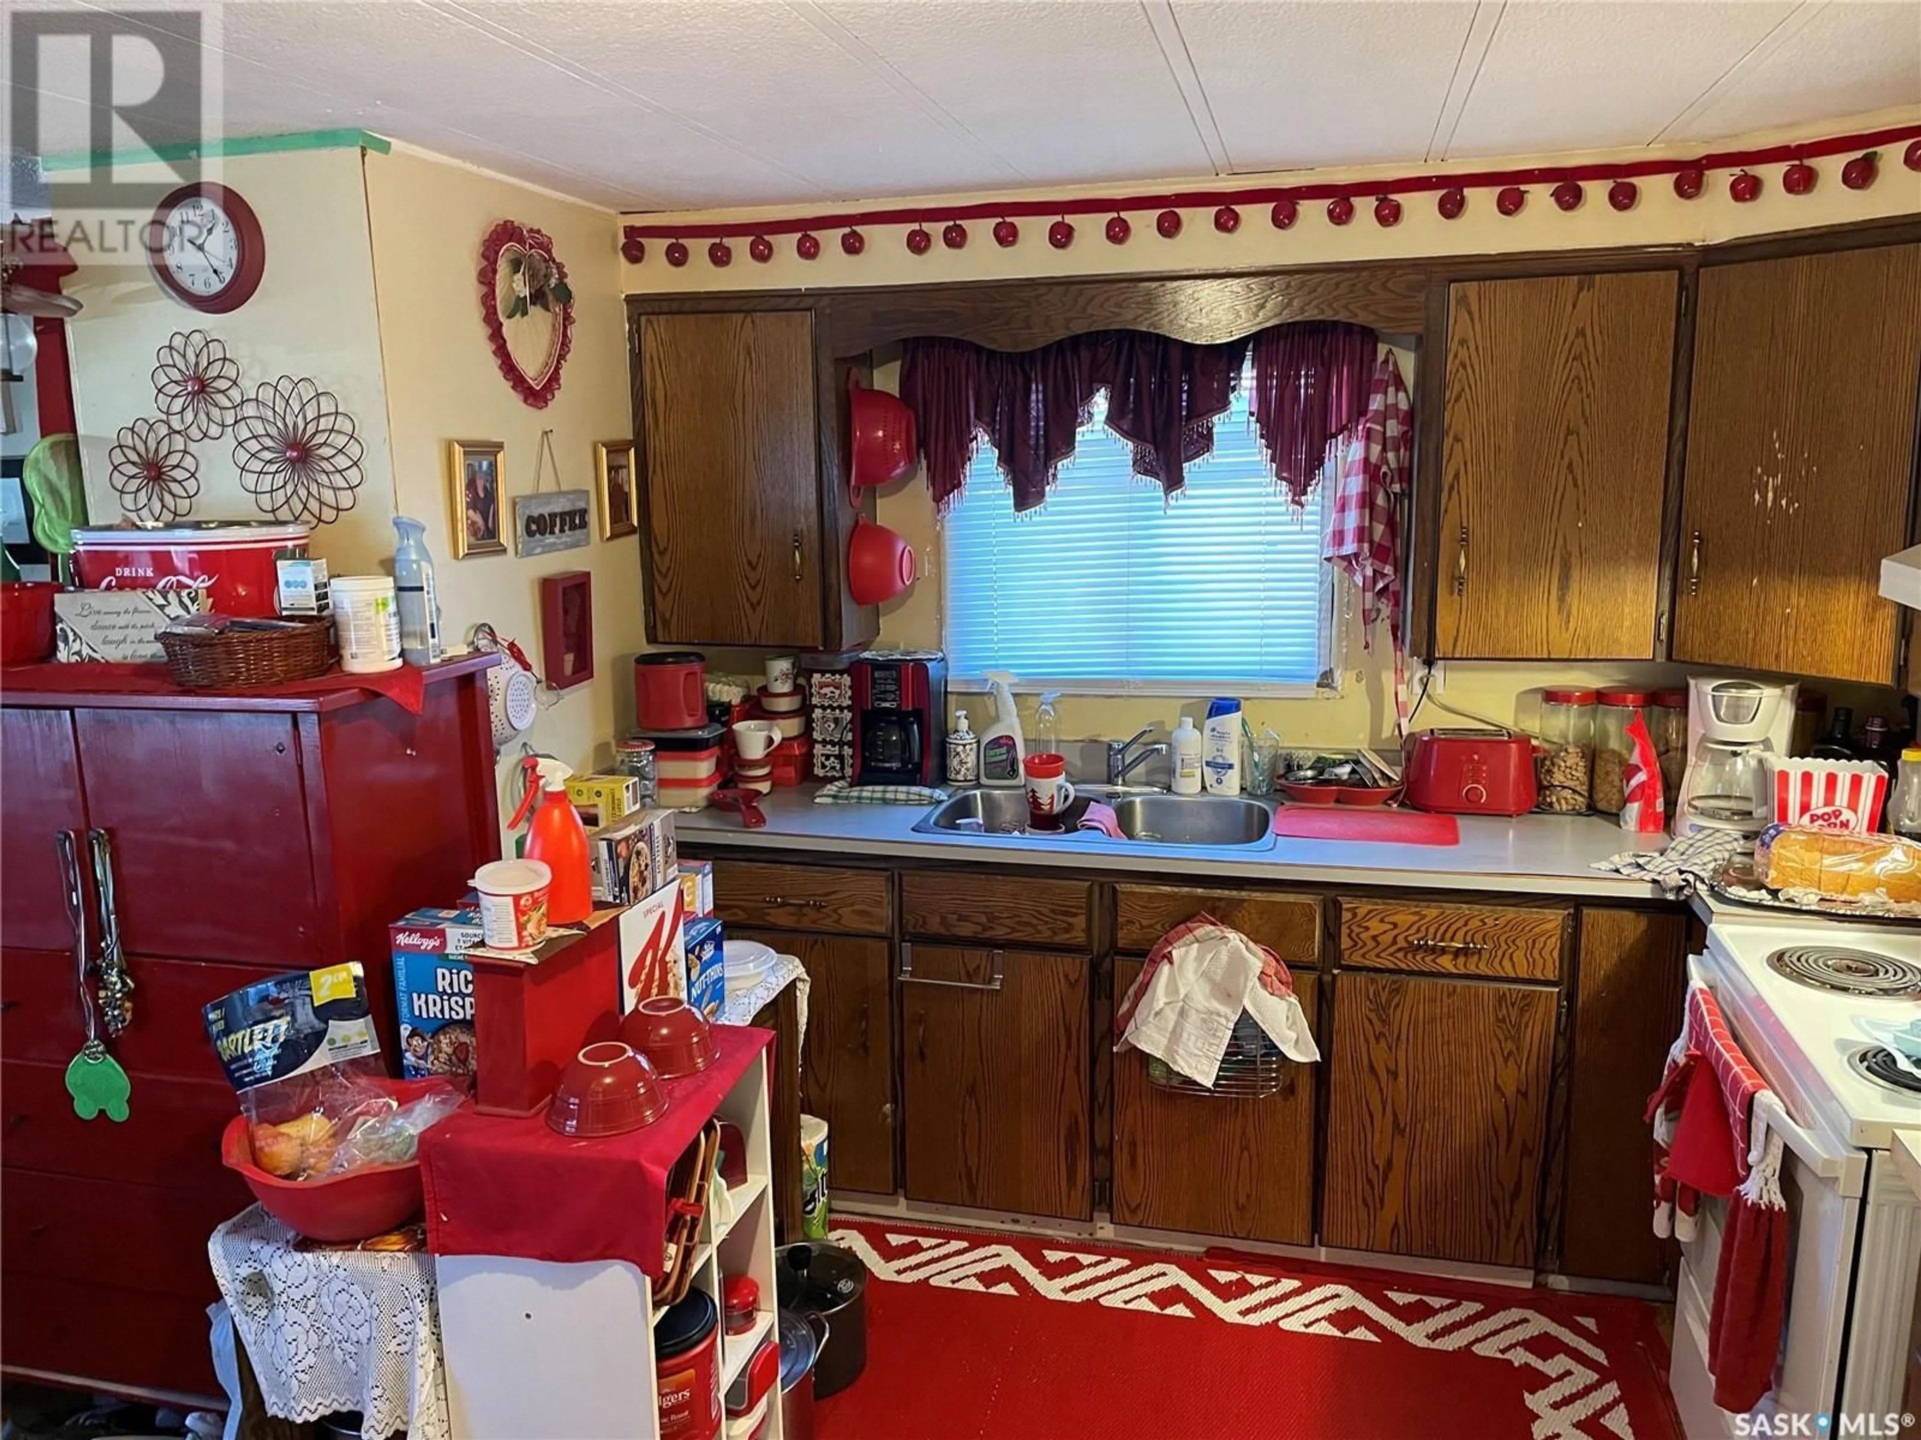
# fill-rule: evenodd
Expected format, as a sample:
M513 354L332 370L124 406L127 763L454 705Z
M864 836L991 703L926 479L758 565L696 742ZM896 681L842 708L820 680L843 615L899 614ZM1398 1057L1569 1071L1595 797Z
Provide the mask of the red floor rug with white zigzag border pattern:
M841 1219L866 1373L818 1440L1677 1440L1635 1300Z

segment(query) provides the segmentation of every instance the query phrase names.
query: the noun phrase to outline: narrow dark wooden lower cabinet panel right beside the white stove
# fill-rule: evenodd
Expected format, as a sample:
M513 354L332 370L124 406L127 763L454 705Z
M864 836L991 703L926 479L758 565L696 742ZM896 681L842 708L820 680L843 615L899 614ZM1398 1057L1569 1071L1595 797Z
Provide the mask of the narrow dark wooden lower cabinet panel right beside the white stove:
M1581 912L1562 1271L1658 1284L1667 1242L1648 1225L1648 1096L1681 1031L1687 916Z

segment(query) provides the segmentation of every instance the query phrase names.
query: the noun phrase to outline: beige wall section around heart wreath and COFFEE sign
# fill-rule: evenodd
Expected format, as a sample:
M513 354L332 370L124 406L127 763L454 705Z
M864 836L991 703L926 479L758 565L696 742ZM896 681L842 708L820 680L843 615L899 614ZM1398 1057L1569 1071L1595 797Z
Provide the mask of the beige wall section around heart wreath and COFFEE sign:
M613 217L401 150L369 154L365 165L396 505L428 522L450 639L465 639L474 622L488 620L521 641L536 670L540 578L592 572L596 678L563 693L542 689L540 720L528 735L534 747L578 770L592 768L611 756L613 737L632 724L632 657L644 643L640 543L632 536L599 540L596 511L596 538L586 549L455 561L446 444L505 442L509 520L511 497L534 488L546 428L553 430L561 484L594 488L594 442L626 440L632 432ZM546 230L574 290L572 355L546 409L528 407L507 386L480 323L474 269L482 238L501 219ZM544 486L553 488L551 476Z

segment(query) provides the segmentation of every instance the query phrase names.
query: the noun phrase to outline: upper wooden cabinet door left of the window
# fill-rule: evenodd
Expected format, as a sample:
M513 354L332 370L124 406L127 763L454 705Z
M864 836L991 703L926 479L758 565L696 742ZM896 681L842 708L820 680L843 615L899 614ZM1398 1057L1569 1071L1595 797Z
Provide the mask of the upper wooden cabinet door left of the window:
M638 365L649 637L824 645L813 315L645 315Z

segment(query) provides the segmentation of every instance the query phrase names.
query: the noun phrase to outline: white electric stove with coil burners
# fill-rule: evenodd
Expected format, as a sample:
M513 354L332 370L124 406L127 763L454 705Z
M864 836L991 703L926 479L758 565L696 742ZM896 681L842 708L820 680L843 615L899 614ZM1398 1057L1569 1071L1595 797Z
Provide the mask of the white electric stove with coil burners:
M1669 1373L1689 1440L1798 1434L1779 1427L1823 1415L1808 1434L1892 1434L1871 1427L1902 1409L1921 1206L1888 1144L1896 1129L1921 1129L1921 1081L1858 1021L1921 1014L1921 927L1717 920L1689 972L1775 1094L1760 1104L1783 1137L1790 1217L1775 1388L1737 1417L1714 1405L1704 1359L1723 1206L1702 1204L1683 1250Z

